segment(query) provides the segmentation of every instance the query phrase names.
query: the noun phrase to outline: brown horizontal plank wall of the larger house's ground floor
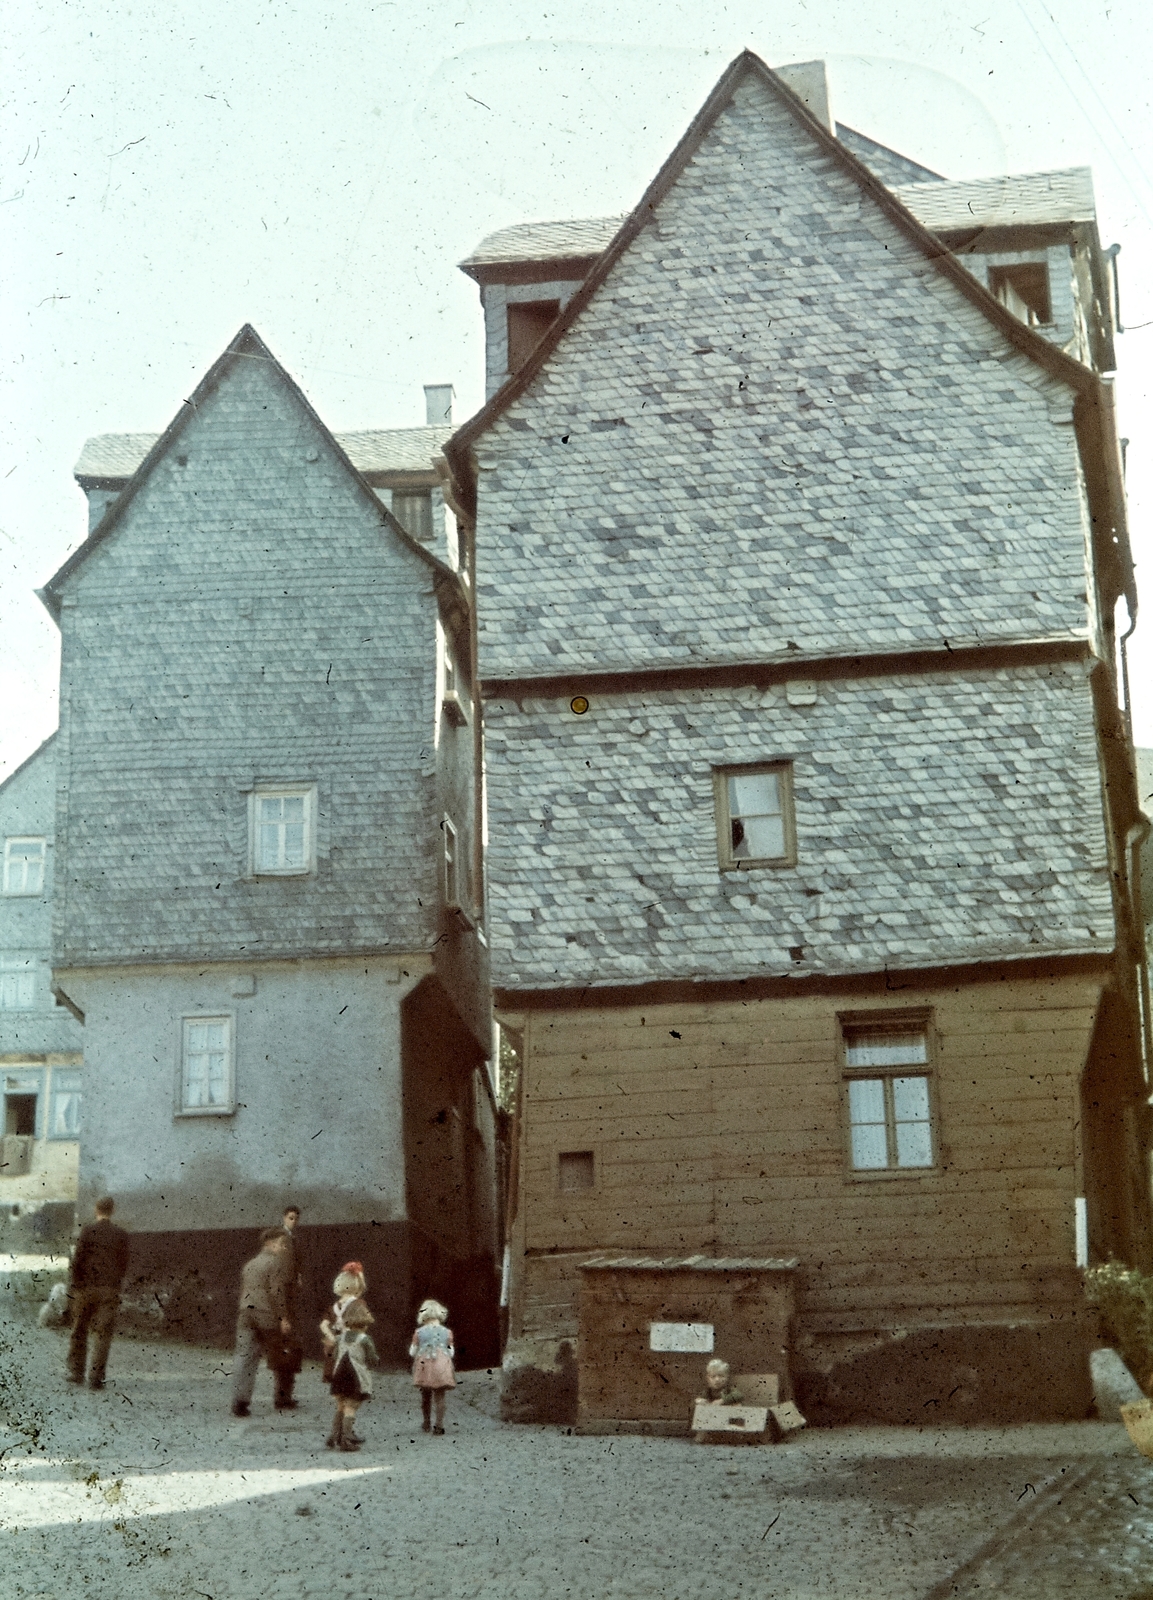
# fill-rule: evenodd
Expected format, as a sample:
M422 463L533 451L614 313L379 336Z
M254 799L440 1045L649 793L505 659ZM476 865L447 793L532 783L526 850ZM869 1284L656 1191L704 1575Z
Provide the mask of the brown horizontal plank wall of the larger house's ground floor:
M800 1256L801 1325L849 1333L1047 1315L1076 1296L1079 1077L1100 984L534 1011L523 1326L573 1338L577 1262ZM929 1008L939 1168L846 1170L838 1013ZM558 1154L593 1150L561 1194Z

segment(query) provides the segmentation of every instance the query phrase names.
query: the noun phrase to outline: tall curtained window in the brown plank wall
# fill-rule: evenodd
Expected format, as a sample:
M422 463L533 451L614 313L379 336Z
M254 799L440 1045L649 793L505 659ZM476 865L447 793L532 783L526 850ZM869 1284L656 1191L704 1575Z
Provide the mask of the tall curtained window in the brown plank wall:
M852 1171L936 1166L928 1022L899 1019L843 1027Z

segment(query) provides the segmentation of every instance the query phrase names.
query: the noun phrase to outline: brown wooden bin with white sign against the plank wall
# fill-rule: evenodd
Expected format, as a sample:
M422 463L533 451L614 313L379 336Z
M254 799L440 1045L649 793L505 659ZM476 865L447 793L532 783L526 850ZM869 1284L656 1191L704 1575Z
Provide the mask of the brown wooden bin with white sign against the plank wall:
M689 1432L705 1363L779 1373L788 1384L795 1259L598 1258L580 1266L579 1426ZM708 1325L712 1350L654 1350L654 1323ZM668 1342L668 1341L664 1341Z

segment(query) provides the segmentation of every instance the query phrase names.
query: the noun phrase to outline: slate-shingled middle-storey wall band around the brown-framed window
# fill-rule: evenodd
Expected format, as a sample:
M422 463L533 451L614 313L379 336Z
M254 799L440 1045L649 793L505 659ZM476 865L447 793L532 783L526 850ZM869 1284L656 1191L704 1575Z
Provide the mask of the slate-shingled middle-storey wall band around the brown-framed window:
M493 979L876 971L1113 942L1078 666L494 701ZM793 758L798 864L721 872L712 768ZM790 950L803 949L803 962Z

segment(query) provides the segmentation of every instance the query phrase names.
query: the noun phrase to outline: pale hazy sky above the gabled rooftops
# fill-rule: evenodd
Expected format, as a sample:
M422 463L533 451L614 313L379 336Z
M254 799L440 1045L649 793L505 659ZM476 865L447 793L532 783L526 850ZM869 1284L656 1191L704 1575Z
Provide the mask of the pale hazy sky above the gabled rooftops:
M1092 166L1153 574L1153 11L1142 0L22 0L0 104L0 779L56 726L34 590L85 438L160 432L251 322L334 430L483 400L496 227L620 213L728 62L822 58L833 115L948 178ZM1153 576L1131 643L1153 746Z

